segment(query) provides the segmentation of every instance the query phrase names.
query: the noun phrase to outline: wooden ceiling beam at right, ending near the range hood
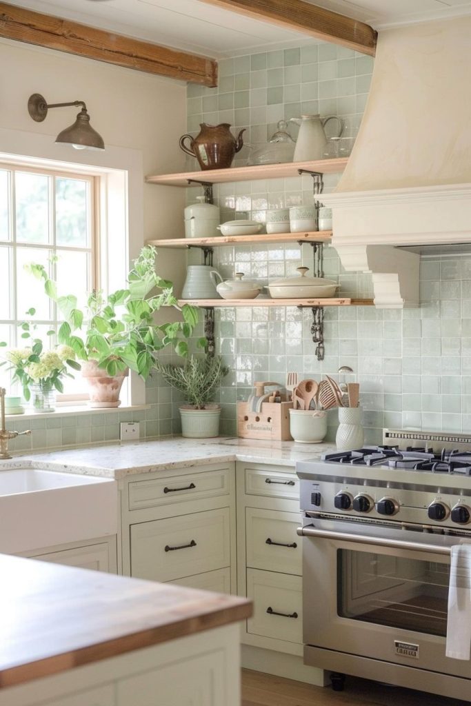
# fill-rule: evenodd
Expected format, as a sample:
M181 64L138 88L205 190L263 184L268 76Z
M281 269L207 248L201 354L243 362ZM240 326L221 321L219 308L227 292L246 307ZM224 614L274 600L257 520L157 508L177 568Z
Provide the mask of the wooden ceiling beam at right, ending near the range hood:
M377 32L363 22L303 0L201 0L242 15L302 32L374 56Z

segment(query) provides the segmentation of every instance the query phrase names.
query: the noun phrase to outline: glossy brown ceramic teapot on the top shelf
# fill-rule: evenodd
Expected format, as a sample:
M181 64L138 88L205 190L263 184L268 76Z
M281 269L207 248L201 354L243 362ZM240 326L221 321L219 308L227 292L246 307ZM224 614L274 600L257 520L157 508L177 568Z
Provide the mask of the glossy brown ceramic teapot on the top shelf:
M220 125L200 124L201 131L196 138L182 135L180 147L191 157L196 157L201 169L227 169L232 164L236 152L242 149L242 129L234 138L229 123ZM185 144L189 140L189 146Z

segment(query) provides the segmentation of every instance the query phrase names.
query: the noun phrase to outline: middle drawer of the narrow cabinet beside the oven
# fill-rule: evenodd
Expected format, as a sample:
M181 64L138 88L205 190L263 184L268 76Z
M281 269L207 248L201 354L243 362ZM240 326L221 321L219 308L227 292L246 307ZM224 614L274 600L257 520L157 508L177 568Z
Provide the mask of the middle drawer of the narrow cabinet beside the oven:
M302 575L301 542L297 513L246 508L247 566Z

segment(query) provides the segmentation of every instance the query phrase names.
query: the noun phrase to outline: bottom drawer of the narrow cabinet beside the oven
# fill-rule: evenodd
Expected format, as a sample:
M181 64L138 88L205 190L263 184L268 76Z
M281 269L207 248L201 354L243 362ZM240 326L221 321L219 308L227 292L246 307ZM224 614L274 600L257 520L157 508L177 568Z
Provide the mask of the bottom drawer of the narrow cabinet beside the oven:
M247 569L247 596L254 601L254 616L247 621L248 633L302 644L300 576Z

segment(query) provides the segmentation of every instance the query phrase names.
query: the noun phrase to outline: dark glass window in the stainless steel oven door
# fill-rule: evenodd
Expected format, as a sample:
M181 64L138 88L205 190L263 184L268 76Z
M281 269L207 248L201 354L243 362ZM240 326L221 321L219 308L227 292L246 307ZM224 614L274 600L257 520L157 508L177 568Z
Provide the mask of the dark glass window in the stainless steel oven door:
M339 616L446 635L448 564L344 549L337 558Z

